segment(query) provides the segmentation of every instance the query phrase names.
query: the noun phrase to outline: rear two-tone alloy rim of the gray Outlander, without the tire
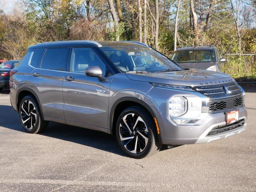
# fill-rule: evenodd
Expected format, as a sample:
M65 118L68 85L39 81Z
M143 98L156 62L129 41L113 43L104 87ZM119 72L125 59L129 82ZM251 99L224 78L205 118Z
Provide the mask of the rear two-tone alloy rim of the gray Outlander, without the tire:
M24 127L28 130L31 130L36 125L36 107L34 104L26 100L22 103L21 110L20 110L21 120Z

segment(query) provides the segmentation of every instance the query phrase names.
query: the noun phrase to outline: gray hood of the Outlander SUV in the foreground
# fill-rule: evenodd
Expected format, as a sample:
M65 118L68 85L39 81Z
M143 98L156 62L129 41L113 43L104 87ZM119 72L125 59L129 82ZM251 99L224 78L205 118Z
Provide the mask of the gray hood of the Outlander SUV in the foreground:
M234 81L230 75L221 72L189 69L158 73L126 73L129 79L162 83L168 85L214 85Z

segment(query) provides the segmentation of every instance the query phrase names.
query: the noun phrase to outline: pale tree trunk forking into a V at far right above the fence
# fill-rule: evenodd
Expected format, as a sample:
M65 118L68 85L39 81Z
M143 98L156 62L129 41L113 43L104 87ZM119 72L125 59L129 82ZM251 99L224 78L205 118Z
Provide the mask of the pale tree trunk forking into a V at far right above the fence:
M241 53L242 53L241 33L240 33L240 27L239 27L239 12L240 12L241 1L236 0L236 9L234 8L233 0L230 0L230 4L231 4L232 16L233 16L234 22L236 24L236 36L237 36L237 40L238 40L238 53L239 53L239 56L241 56Z

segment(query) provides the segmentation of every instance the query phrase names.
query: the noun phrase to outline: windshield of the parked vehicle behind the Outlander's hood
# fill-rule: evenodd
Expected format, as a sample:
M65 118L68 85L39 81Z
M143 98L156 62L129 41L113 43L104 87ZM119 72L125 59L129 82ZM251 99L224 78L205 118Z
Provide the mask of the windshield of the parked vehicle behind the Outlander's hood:
M175 51L172 60L177 63L214 62L216 61L216 56L212 49L190 49Z

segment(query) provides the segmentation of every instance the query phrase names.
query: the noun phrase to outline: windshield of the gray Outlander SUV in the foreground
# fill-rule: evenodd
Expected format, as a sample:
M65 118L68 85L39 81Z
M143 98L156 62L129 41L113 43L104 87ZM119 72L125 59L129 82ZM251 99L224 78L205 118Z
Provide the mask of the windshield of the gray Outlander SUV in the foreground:
M121 72L180 71L178 65L152 48L142 46L101 47Z

